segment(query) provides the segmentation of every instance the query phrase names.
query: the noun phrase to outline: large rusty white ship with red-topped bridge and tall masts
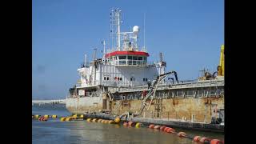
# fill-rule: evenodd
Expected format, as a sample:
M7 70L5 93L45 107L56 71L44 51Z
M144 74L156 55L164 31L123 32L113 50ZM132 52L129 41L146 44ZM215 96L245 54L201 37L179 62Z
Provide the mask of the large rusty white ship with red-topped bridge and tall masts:
M110 11L110 41L102 41L102 58L78 68L80 78L70 88L66 109L72 114L128 114L172 122L224 124L224 45L217 70L202 70L195 80L182 81L167 70L163 54L148 62L146 46L139 46L139 26L121 32L122 10ZM144 36L145 37L145 36Z

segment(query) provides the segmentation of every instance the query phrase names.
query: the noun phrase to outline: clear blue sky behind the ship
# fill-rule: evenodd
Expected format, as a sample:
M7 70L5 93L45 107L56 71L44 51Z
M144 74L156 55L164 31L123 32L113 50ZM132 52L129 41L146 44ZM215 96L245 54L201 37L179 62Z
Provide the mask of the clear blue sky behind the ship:
M32 98L66 98L78 81L84 55L94 48L101 57L102 40L110 46L110 10L122 10L121 31L140 27L139 46L148 61L167 62L180 80L196 79L199 70L217 70L224 44L223 0L33 0Z

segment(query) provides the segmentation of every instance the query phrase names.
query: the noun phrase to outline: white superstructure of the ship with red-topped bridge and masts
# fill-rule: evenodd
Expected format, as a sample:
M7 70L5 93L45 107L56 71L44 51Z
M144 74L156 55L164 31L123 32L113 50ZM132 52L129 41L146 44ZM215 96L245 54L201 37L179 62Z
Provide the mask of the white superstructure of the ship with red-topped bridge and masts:
M86 62L78 69L78 95L84 95L87 89L97 86L145 86L149 80L165 72L166 62L148 62L150 55L145 47L140 50L139 27L134 26L131 32L121 32L121 23L121 10L112 10L110 33L113 47L105 50L106 42L103 41L102 58L94 58L92 62L87 62L86 58Z

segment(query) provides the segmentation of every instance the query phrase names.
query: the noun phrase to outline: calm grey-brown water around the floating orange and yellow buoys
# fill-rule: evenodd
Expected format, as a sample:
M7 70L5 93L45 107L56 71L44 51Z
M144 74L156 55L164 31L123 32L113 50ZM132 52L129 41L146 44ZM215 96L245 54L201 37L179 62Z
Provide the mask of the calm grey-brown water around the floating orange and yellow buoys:
M57 114L58 116L68 116L70 113L64 105L32 106L32 114ZM189 135L200 135L209 138L223 140L224 134L202 132L198 130L181 130ZM169 134L148 128L124 127L114 124L103 124L98 122L72 121L60 122L59 118L51 119L47 122L32 120L32 143L92 143L92 144L186 144L195 143L188 138L178 138L176 134Z

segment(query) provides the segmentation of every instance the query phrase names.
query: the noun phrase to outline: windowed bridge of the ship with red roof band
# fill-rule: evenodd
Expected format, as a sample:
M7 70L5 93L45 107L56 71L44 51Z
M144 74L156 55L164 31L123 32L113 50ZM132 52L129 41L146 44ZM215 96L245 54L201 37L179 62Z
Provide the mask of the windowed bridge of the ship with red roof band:
M147 57L144 51L114 51L105 55L106 62L115 66L147 66Z

